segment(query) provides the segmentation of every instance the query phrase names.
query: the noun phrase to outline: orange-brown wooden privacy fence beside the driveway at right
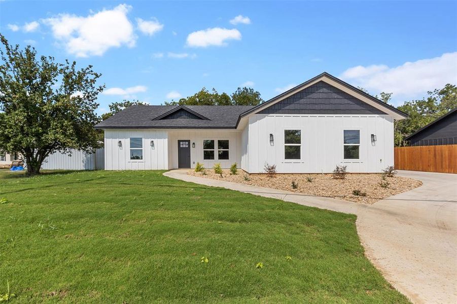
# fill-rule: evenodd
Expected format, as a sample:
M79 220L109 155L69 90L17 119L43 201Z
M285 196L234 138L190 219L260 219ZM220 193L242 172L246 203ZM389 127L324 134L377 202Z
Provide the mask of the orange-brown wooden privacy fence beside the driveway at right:
M395 169L457 173L457 144L395 147Z

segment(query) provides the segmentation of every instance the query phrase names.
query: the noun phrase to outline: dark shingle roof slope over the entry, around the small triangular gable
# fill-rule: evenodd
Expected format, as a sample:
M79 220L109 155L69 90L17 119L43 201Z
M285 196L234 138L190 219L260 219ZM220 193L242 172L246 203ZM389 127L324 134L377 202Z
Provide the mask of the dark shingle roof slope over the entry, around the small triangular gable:
M132 105L95 126L110 128L179 128L179 129L233 129L242 112L252 109L250 105ZM203 119L154 120L172 109L189 108Z

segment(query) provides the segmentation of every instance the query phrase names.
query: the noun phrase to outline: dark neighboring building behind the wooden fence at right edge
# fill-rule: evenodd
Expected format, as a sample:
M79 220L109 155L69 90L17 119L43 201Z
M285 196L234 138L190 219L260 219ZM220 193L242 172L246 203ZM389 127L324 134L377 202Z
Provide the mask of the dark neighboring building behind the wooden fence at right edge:
M457 108L420 128L405 140L412 146L457 144Z

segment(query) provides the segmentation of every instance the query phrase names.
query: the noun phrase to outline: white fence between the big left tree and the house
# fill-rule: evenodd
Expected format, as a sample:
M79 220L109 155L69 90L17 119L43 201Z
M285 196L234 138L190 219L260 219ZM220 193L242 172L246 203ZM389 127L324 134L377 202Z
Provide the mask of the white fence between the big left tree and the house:
M80 150L72 150L71 155L57 152L48 156L41 168L52 170L104 169L104 149L97 149L93 154Z

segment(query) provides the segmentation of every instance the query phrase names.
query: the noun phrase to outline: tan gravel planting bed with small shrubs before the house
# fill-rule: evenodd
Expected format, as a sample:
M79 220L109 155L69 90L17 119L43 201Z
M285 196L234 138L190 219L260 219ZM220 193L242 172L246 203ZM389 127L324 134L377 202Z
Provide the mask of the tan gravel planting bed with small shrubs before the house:
M247 174L238 170L238 174L230 174L223 170L222 177L214 170L206 170L206 174L189 170L188 174L204 178L238 182L248 185L274 188L315 196L330 197L350 202L373 204L390 196L409 191L422 185L421 181L394 176L382 179L382 174L347 174L345 179L333 179L332 174ZM249 180L245 179L248 178ZM312 181L308 181L312 179ZM292 186L295 183L296 188ZM383 184L386 187L381 186ZM359 195L355 195L358 192ZM363 196L365 195L365 196Z

